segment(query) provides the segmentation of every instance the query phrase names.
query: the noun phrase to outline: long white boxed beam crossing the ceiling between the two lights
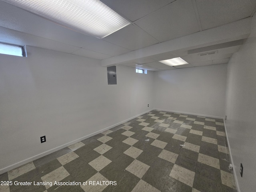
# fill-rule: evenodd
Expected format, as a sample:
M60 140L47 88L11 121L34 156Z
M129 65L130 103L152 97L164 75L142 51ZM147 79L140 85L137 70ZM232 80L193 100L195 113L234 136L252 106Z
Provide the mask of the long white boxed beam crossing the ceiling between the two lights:
M189 50L214 44L247 38L250 35L251 18L245 18L226 25L210 28L187 36L154 44L119 56L101 60L101 65L112 66L156 54L176 50Z

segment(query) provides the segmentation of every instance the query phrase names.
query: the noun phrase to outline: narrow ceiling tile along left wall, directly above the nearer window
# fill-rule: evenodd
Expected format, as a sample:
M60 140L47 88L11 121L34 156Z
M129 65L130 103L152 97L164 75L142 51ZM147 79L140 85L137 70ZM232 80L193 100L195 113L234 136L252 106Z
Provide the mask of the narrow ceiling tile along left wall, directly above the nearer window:
M40 47L44 49L60 51L65 53L72 53L78 50L78 47L64 44L61 42L56 42L50 39L26 34L23 32L15 31L12 29L7 29L0 27L0 41L9 42L13 44L28 45L34 47Z

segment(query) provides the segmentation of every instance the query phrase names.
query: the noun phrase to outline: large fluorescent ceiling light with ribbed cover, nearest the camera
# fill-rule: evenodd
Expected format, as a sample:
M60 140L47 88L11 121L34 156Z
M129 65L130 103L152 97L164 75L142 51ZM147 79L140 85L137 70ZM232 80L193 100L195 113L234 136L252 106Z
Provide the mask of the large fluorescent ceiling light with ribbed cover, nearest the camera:
M100 0L4 0L72 30L104 38L130 24Z

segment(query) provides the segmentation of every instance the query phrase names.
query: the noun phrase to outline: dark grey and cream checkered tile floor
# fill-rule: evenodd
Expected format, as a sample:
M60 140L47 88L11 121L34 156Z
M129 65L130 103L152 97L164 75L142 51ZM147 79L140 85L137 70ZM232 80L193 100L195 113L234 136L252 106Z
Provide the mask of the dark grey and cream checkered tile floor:
M151 111L0 175L1 181L116 185L0 186L2 192L236 192L223 120Z

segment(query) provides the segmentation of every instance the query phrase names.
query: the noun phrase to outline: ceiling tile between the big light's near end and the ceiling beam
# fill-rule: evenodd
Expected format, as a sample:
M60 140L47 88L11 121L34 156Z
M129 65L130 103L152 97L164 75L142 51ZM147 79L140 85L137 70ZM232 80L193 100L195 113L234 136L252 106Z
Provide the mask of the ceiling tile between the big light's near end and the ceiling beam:
M144 32L138 26L132 24L103 39L130 50L137 50L158 43L152 36Z

